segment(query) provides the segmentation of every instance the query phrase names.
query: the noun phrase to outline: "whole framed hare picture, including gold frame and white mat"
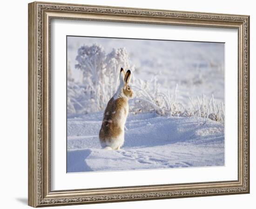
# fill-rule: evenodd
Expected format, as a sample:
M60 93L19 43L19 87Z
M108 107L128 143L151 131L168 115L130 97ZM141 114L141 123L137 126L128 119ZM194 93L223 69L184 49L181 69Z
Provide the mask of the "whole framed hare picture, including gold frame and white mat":
M249 16L28 4L28 204L249 193Z

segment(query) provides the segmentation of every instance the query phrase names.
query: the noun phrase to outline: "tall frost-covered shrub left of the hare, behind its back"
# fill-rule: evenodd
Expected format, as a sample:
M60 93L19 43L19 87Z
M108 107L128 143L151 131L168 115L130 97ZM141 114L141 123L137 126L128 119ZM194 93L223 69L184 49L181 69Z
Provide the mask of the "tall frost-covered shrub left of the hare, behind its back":
M67 112L87 113L104 110L119 84L119 71L134 70L129 64L125 48L113 49L106 54L97 44L81 46L76 57L75 68L81 70L82 84L75 84L70 79L67 85Z

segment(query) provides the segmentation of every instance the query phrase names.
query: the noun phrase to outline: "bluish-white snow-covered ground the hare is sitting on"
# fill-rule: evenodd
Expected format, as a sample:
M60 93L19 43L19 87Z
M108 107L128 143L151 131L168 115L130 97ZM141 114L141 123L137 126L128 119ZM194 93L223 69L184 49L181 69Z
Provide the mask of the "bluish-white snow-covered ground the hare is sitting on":
M224 165L224 124L201 117L128 117L121 150L102 150L103 113L67 118L67 172Z

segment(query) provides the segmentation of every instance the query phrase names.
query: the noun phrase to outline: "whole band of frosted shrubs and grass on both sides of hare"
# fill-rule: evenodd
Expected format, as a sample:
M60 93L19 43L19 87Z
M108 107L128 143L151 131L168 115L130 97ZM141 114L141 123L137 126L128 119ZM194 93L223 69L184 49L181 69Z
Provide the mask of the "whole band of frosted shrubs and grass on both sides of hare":
M67 81L67 113L79 114L95 111L103 111L114 95L119 85L120 68L135 70L129 62L129 55L125 48L113 49L106 53L102 46L81 46L76 56L75 68L82 72L82 82L75 83L72 71L68 69ZM191 105L186 107L177 101L178 85L171 91L160 91L157 77L144 81L136 79L134 73L131 86L135 92L135 98L129 101L131 114L156 111L159 115L166 116L199 116L216 121L224 121L224 105L216 104L214 96L206 99L196 98L190 100Z

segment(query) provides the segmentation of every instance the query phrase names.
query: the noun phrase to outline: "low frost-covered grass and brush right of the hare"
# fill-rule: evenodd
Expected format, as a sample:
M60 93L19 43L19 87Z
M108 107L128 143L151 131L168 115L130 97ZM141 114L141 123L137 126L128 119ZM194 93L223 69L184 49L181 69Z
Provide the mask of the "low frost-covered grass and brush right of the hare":
M202 100L197 97L194 102L188 98L192 105L184 106L177 101L178 85L175 87L174 95L168 92L159 91L159 84L156 78L149 82L136 80L133 86L136 97L131 100L130 109L132 113L156 111L159 115L190 117L199 116L215 121L224 122L224 105L216 104L214 95L206 99L202 95Z

